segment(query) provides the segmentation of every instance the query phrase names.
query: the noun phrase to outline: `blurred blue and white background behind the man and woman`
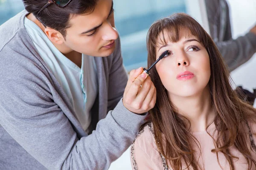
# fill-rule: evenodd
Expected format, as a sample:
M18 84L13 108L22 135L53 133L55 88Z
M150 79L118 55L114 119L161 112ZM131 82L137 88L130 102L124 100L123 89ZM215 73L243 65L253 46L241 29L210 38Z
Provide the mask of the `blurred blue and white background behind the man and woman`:
M204 0L113 0L116 28L121 38L127 71L147 66L146 34L151 24L174 12L191 14L209 31ZM256 0L227 0L233 38L245 34L256 24ZM0 0L0 25L23 10L21 0ZM1 37L0 37L1 40ZM252 91L256 88L256 54L231 73L235 85ZM129 149L110 170L131 170Z

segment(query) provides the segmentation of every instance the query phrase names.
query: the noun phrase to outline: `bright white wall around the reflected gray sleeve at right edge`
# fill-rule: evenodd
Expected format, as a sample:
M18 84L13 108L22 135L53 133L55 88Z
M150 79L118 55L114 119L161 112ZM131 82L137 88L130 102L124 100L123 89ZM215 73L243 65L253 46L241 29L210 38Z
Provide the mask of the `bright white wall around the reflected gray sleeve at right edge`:
M227 0L230 7L230 20L233 38L247 33L256 24L256 0ZM256 88L256 54L244 65L232 71L236 85L249 91Z

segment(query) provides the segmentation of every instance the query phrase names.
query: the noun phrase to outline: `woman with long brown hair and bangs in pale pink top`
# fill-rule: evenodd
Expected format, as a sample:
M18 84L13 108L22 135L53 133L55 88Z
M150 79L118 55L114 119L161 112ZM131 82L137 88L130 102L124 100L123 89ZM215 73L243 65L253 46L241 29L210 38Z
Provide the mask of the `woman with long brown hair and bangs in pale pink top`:
M148 65L157 102L131 146L137 170L256 169L256 110L233 91L207 32L187 14L148 31ZM253 135L252 135L253 134Z

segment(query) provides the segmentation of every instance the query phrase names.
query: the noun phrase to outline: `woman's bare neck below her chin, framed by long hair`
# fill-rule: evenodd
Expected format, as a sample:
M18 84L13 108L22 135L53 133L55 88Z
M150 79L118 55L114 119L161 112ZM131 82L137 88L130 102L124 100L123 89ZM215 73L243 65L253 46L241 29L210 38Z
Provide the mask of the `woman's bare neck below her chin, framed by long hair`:
M192 132L205 131L215 118L216 113L211 105L208 86L204 91L194 96L181 97L169 94L169 98L175 105L177 112L189 119Z

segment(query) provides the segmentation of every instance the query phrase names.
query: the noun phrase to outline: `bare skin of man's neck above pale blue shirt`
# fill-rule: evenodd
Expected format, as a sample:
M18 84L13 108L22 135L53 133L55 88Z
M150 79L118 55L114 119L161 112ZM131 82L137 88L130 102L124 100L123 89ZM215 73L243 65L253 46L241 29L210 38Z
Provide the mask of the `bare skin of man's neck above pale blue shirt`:
M32 22L34 22L39 28L41 28L41 30L44 32L45 34L45 27L44 25L36 19L36 17L30 13L26 16L29 20L31 20ZM51 41L52 42L52 41ZM82 62L82 55L79 52L76 51L72 51L70 48L67 48L64 44L56 44L54 42L52 42L52 44L58 49L58 51L60 51L65 57L67 57L68 59L70 59L72 62L74 62L77 66L79 66L79 68L81 68L81 62Z

